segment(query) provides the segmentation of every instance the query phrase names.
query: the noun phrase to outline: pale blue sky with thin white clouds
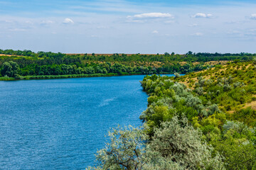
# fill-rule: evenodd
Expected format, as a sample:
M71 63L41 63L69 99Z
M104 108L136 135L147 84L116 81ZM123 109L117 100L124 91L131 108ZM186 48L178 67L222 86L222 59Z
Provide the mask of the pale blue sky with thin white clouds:
M256 1L0 0L0 49L256 53Z

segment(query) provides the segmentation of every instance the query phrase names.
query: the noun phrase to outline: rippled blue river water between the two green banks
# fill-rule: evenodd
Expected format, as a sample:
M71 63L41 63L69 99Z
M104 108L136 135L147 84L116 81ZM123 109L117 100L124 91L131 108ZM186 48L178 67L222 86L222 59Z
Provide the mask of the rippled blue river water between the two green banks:
M144 76L0 81L0 169L85 169L117 125L142 122Z

